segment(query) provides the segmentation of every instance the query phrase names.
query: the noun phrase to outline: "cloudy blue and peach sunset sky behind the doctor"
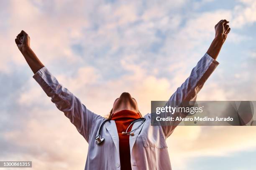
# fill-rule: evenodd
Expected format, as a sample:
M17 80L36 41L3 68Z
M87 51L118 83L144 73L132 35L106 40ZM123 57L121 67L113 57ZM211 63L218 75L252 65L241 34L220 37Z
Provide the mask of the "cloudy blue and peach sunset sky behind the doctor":
M88 145L33 80L15 37L93 112L121 92L142 115L168 100L230 21L220 63L197 100L256 100L254 0L0 1L0 160L36 170L84 169ZM183 127L166 140L174 170L256 169L255 127Z

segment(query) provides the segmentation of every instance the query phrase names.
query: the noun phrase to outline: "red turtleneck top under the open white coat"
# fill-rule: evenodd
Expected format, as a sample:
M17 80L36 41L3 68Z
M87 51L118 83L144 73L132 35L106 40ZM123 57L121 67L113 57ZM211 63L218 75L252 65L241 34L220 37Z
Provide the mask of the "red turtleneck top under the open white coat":
M140 118L140 115L131 110L121 110L116 112L111 118L111 120L115 120L116 128L118 131L121 170L131 170L131 155L129 144L130 135L122 134L122 132L125 132L131 122L138 118ZM130 132L131 129L132 125L127 130L127 132Z

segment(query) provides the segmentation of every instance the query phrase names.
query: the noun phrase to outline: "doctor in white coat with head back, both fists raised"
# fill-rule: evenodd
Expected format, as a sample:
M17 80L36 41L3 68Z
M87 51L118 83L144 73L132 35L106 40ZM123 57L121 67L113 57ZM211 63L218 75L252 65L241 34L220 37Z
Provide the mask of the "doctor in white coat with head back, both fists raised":
M230 32L228 23L220 20L215 25L215 38L207 53L166 105L196 100L197 93L218 65L215 59ZM15 42L34 72L33 78L89 143L86 170L171 170L165 140L175 125L151 126L151 114L142 117L136 100L128 92L115 100L108 119L91 112L40 62L30 48L26 32L21 31Z

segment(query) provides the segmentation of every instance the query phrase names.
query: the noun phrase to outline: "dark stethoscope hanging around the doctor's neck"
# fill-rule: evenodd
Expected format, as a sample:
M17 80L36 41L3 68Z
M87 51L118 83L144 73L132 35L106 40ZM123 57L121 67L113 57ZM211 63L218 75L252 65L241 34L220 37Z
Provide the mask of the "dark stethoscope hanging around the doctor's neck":
M96 136L96 138L95 138L96 144L100 144L100 143L102 143L102 142L104 141L104 138L101 138L101 130L102 130L103 125L104 125L105 122L107 122L107 121L110 121L110 120L108 120L108 119L107 119L107 120L104 120L104 121L102 122L102 124L100 125L99 134L98 134L98 135ZM133 125L135 122L138 122L138 121L141 121L141 124L138 125L137 128L131 130L130 132L127 132L128 129L131 127L131 125ZM133 132L134 132L135 130L137 130L145 121L146 121L146 118L138 118L138 119L133 120L133 121L131 122L131 124L128 126L128 128L126 129L126 131L125 131L125 132L122 132L122 134L123 134L123 135L131 135L131 136L133 136L133 135L134 135ZM141 133L141 132L140 132L140 133Z

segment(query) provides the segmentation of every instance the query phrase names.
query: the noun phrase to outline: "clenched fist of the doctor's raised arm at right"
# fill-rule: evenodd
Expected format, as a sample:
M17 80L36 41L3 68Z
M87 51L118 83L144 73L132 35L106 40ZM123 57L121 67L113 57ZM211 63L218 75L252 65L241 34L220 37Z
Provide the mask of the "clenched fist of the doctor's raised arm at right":
M229 21L227 20L220 20L215 25L215 38L221 38L224 40L227 38L228 33L230 32L228 23Z

